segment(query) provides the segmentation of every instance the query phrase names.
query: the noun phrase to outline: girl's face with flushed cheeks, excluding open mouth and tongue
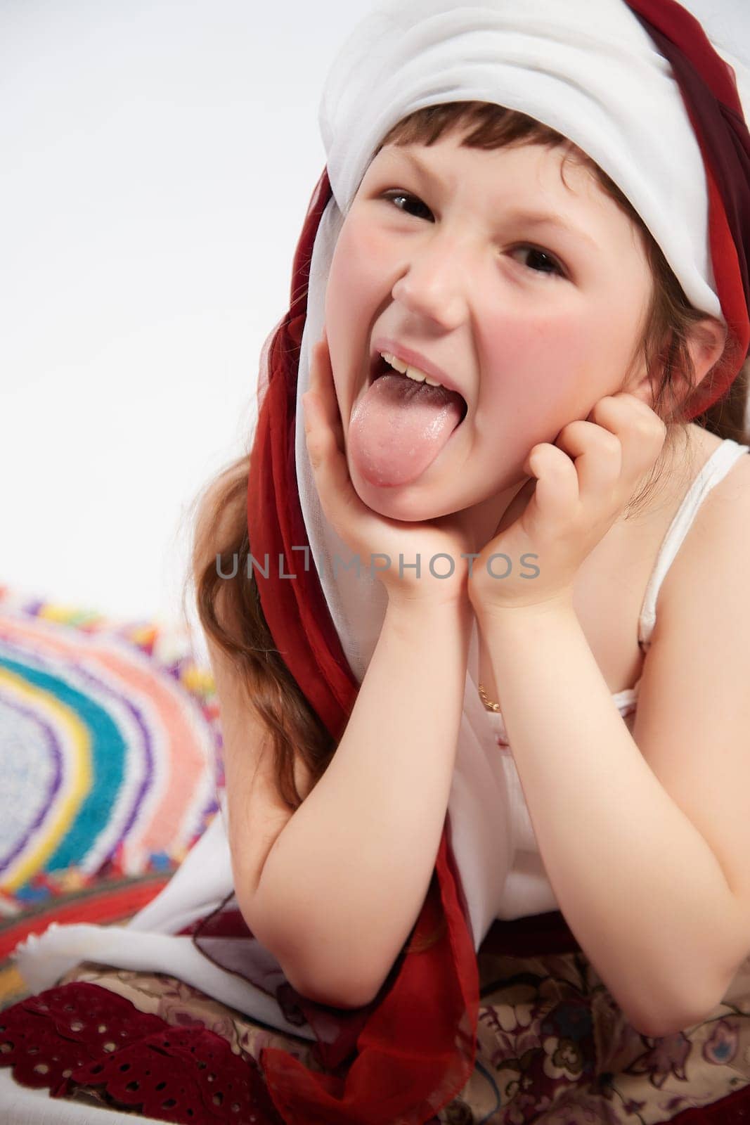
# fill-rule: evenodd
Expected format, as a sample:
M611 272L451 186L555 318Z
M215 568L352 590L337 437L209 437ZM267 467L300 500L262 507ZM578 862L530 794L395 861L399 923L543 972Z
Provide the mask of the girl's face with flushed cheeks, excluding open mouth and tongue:
M591 173L569 162L566 187L564 150L459 142L388 145L371 162L336 243L325 322L363 502L398 520L473 508L489 538L528 479L531 448L623 388L652 279L640 232ZM373 357L398 346L446 372L467 413L414 482L385 487L360 472L350 428Z

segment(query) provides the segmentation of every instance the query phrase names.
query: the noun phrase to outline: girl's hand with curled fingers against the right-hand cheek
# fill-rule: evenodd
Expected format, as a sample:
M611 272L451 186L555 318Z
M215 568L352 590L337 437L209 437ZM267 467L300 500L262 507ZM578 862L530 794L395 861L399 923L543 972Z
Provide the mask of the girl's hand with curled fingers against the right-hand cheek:
M472 562L468 592L476 612L571 604L580 565L657 461L667 428L642 399L607 395L588 418L566 425L553 446L531 449L523 469L533 476ZM493 559L488 569L493 555L507 558ZM524 555L532 557L524 561Z

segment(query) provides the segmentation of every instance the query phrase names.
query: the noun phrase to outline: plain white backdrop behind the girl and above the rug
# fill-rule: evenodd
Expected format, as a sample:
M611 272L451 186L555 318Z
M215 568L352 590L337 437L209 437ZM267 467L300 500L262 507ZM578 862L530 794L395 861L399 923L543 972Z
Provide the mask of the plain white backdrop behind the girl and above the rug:
M689 0L750 55L744 0ZM174 621L365 0L1 0L0 585Z

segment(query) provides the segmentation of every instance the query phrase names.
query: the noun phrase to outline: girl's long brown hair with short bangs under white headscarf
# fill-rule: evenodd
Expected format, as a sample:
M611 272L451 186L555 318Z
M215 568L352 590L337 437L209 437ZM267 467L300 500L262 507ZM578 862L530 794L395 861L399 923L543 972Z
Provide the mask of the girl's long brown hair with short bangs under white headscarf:
M665 403L672 400L671 392L678 376L684 376L688 386L693 386L695 372L687 341L692 327L706 314L690 305L661 249L613 180L567 137L534 118L487 102L430 106L395 125L380 147L385 144L431 145L446 132L459 127L472 129L462 140L463 147L501 148L513 144L566 147L566 161L576 160L588 166L602 189L641 232L654 284L633 359L642 356L645 360L654 388L651 406L667 425L665 450L669 451L680 435L687 438L685 417L689 417L689 397L686 410L678 417L667 416ZM564 162L561 174L563 169ZM735 357L737 344L729 339L723 356L706 378L715 378L725 364L735 362ZM749 366L743 366L721 402L694 420L696 425L720 438L750 444L746 424ZM207 502L201 508L201 528L196 528L193 561L196 558L211 559L202 573L195 575L196 598L204 630L233 660L249 700L266 723L275 756L277 788L288 808L295 810L302 800L295 784L295 756L301 756L316 783L325 773L336 746L277 651L261 609L257 584L254 576L249 577L250 542L245 506L249 462L250 450L229 465L193 502L193 511L201 501ZM659 479L659 467L660 461L657 461L644 488L631 498L627 508L631 515L649 500ZM211 547L210 555L208 546ZM235 577L222 576L227 573L235 573ZM186 592L187 585L183 600Z

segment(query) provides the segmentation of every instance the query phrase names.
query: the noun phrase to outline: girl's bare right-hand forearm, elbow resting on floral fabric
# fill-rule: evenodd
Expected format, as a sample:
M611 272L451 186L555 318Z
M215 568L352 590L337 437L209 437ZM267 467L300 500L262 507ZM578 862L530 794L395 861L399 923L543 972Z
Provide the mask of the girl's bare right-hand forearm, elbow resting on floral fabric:
M716 856L641 755L572 604L480 627L568 925L636 1028L688 1026L716 1002L715 920L732 909Z

